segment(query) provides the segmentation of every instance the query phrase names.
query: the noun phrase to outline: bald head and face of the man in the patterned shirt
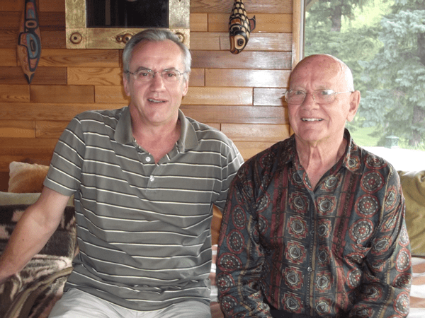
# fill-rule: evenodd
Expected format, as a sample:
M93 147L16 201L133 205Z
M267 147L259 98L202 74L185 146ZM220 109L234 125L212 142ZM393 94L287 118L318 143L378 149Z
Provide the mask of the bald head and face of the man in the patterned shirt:
M295 66L289 87L295 98L288 100L288 116L298 146L341 146L346 121L353 120L361 99L353 86L348 66L331 55L312 55ZM326 98L329 90L334 93Z

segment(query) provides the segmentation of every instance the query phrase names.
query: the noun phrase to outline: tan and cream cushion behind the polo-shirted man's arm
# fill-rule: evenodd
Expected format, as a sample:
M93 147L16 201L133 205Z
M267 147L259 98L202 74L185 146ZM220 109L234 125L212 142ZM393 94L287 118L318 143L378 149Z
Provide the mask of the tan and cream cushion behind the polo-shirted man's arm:
M41 192L47 170L49 170L47 165L11 162L7 191L13 193Z

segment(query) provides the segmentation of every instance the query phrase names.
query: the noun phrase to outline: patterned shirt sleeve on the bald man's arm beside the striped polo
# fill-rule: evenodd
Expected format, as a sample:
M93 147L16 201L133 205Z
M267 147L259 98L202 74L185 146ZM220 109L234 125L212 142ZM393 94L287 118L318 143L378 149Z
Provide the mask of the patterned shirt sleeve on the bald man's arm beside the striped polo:
M254 187L246 182L246 165L229 189L223 211L217 253L218 299L225 317L271 317L263 302L261 272L264 251L259 244L259 224Z

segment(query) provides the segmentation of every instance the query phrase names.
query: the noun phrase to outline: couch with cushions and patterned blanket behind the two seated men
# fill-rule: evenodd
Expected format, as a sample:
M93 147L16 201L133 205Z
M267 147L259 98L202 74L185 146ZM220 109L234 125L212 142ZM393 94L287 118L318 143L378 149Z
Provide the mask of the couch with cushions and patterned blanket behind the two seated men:
M8 192L0 192L0 253L26 206L35 202L42 189L46 165L10 164ZM425 317L425 170L399 171L406 199L407 230L412 245L414 278L409 318ZM213 265L211 312L223 317L215 288L215 251L220 230L220 212L212 219ZM68 202L59 228L21 273L0 285L0 318L47 317L62 297L64 282L72 271L72 258L78 253L75 240L73 202Z

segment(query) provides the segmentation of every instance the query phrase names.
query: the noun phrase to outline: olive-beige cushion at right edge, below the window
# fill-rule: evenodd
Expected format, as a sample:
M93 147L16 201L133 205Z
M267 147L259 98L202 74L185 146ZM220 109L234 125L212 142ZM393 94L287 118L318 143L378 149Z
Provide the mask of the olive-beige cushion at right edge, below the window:
M406 225L414 256L425 256L425 170L399 171L404 199Z

